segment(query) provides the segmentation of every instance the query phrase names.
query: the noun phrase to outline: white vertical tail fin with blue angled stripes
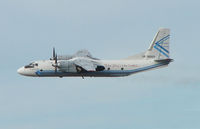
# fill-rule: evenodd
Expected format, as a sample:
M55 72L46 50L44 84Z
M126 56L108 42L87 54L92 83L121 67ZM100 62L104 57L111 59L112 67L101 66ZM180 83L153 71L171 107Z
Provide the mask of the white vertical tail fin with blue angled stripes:
M155 60L169 59L169 38L169 29L159 29L145 53L145 58L154 58Z

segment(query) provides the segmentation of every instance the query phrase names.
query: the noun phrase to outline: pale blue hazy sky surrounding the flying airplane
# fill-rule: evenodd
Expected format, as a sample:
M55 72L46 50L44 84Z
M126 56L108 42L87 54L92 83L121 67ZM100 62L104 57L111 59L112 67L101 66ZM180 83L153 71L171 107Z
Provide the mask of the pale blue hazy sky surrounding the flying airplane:
M200 1L0 0L0 129L199 129ZM125 78L29 78L33 60L118 59L171 29L168 68Z

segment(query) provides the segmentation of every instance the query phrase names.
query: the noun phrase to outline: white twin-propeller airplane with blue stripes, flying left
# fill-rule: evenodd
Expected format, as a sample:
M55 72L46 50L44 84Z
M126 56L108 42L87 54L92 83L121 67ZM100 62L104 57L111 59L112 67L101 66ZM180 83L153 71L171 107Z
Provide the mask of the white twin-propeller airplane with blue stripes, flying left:
M168 66L170 29L160 28L149 48L142 53L119 60L100 60L87 50L74 55L53 56L49 60L34 61L17 72L31 77L124 77Z

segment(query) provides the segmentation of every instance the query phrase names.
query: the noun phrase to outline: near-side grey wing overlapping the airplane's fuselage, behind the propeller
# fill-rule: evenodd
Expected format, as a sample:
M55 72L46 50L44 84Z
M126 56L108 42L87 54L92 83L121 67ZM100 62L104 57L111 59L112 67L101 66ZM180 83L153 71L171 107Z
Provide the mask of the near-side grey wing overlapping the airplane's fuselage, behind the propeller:
M96 71L97 67L96 62L87 59L76 59L74 60L74 64L86 71Z

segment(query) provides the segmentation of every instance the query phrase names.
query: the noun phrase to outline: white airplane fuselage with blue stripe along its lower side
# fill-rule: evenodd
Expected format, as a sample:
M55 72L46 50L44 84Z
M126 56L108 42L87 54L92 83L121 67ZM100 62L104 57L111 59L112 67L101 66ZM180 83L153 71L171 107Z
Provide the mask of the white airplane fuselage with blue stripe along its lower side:
M63 72L59 69L55 71L53 60L42 60L33 62L33 64L37 65L32 68L21 67L18 69L18 73L34 77L120 77L168 65L168 63L155 62L153 59L95 60L95 62L102 64L105 69L103 71L90 72L77 72L76 70Z

